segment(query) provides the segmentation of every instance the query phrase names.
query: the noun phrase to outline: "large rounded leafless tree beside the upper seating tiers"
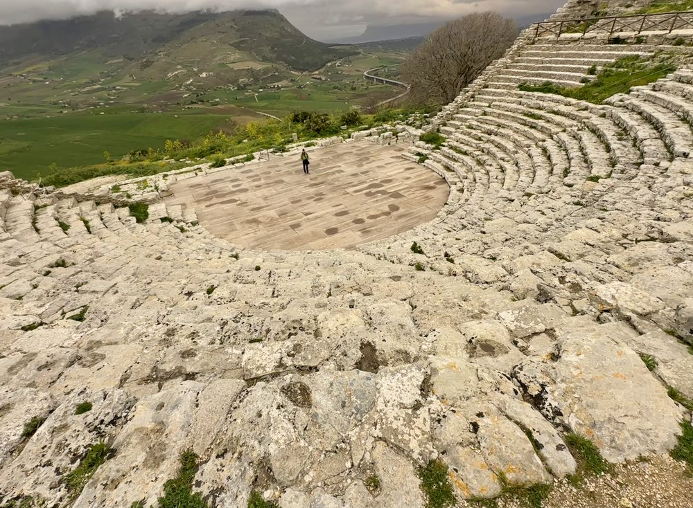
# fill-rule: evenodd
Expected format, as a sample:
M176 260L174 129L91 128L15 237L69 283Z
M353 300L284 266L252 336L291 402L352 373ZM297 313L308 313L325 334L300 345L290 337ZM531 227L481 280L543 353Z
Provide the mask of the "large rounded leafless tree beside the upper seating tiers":
M407 58L403 80L412 100L446 104L459 95L518 36L515 21L498 12L477 12L442 26Z

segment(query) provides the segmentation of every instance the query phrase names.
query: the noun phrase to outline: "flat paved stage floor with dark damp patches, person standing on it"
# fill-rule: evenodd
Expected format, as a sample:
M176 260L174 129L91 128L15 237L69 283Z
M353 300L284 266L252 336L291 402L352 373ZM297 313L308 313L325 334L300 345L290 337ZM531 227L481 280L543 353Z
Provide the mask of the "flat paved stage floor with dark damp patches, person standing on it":
M405 145L341 143L171 186L167 204L194 208L200 224L238 246L265 250L352 248L433 219L444 179L407 161Z

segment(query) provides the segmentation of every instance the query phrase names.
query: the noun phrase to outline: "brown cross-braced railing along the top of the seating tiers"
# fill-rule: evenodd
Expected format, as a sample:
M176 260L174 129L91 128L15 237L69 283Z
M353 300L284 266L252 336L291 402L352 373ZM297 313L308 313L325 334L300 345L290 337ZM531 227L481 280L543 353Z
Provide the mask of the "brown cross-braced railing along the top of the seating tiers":
M672 33L685 28L693 30L693 11L541 21L536 24L534 38L576 33L602 33L608 34L608 37L616 33Z

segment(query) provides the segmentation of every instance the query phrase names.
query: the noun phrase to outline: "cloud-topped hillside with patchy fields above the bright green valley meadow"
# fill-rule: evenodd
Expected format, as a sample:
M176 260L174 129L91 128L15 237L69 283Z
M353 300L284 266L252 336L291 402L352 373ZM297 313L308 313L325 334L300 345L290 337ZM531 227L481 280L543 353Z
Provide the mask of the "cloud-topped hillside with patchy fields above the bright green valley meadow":
M290 80L355 53L306 37L275 10L119 19L102 12L0 27L0 97L15 108L189 103L218 88Z

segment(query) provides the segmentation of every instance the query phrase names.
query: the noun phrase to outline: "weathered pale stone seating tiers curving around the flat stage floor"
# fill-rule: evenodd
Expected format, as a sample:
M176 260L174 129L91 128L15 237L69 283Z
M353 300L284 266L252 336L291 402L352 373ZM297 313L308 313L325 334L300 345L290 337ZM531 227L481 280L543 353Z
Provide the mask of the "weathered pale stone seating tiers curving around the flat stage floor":
M3 173L0 506L157 506L184 450L193 491L225 508L253 491L282 508L423 507L430 460L460 506L560 486L579 467L571 433L642 478L683 471L668 453L693 398L693 32L643 26L625 44L525 30L430 118L439 149L398 145L444 179L444 203L356 248L213 235L181 185L243 165L121 183L150 201L140 222L108 186ZM518 89L667 52L674 73L603 105ZM414 131L400 130L338 146L391 150ZM76 489L100 442L107 460ZM692 480L676 478L640 500L550 506L690 508Z

